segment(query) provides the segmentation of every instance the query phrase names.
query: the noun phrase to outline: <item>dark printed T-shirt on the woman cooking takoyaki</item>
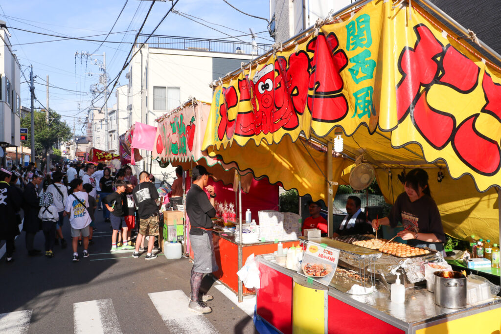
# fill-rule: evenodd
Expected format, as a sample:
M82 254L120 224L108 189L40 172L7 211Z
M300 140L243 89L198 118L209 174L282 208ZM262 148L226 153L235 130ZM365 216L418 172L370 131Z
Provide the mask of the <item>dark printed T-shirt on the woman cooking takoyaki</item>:
M441 241L435 244L445 242L445 233L443 232L440 212L433 198L428 195L424 195L418 200L411 202L405 192L401 193L398 195L388 219L390 220L391 227L395 227L398 222L401 222L403 227L411 232L435 234L437 239ZM407 240L407 244L409 245L423 243L426 244L427 242L415 239ZM429 242L429 244L432 243Z

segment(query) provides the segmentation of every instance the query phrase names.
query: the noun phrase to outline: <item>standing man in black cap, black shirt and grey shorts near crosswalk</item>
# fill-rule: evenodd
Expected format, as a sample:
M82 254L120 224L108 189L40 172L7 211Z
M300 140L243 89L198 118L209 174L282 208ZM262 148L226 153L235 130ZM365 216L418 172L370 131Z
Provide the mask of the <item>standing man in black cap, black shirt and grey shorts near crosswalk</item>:
M215 217L214 187L207 185L209 173L203 166L195 166L191 170L193 184L186 194L186 213L190 221L189 232L191 249L193 249L193 267L191 268L191 299L189 309L204 314L212 309L205 301L211 300L208 294L199 295L200 284L204 273L211 273L218 269L214 247L212 245L212 220ZM204 189L209 193L210 199Z

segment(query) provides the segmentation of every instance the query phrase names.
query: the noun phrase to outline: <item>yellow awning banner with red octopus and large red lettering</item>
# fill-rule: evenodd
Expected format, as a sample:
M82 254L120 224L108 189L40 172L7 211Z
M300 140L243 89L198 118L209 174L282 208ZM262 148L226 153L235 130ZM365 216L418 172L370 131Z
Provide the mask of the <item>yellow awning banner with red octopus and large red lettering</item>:
M302 132L332 139L334 127L350 136L363 125L391 132L393 148L418 143L428 162L443 159L453 178L470 174L486 190L501 167L501 80L428 16L373 1L224 78L202 149Z

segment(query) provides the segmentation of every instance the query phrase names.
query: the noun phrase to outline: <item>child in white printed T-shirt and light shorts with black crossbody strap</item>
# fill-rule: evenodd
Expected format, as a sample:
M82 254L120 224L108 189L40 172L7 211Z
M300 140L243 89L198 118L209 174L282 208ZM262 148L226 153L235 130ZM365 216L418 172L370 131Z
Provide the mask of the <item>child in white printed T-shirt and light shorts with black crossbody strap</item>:
M89 225L91 217L87 208L89 207L89 195L83 191L83 181L74 179L70 182L70 195L66 200L65 211L70 216L71 236L73 246L73 261L79 261L78 256L78 238L82 234L84 241L84 257L89 256L87 248L89 247Z

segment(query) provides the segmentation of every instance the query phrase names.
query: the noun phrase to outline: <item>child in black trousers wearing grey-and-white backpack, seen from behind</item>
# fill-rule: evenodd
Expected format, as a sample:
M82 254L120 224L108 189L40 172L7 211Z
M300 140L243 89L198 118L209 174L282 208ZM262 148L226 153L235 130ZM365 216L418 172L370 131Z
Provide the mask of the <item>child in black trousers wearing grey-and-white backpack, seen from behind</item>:
M54 256L54 241L56 240L56 224L59 220L59 213L54 206L54 199L50 192L42 193L40 197L40 211L38 218L42 220L42 230L45 235L45 256Z

